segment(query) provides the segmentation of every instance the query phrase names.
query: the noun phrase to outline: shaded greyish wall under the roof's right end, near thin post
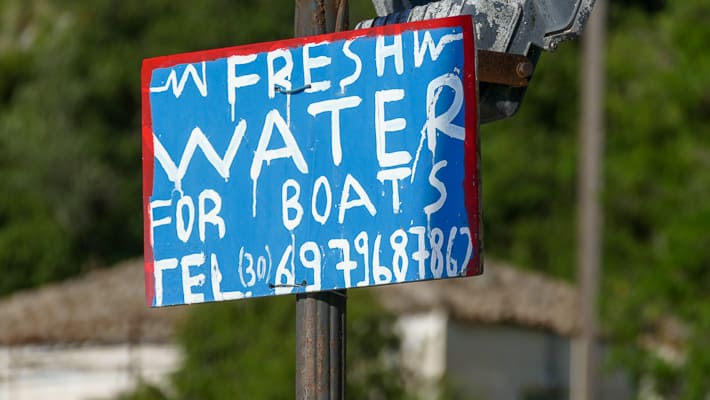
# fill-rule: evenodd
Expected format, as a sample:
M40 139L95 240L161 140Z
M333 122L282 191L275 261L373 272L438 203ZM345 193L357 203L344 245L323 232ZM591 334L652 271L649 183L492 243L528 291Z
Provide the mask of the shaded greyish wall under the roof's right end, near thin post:
M450 321L447 336L448 377L474 398L524 400L526 391L536 390L550 390L546 398L567 398L570 347L567 338L515 326L456 321ZM602 365L603 356L604 352ZM603 372L600 399L633 398L623 372Z

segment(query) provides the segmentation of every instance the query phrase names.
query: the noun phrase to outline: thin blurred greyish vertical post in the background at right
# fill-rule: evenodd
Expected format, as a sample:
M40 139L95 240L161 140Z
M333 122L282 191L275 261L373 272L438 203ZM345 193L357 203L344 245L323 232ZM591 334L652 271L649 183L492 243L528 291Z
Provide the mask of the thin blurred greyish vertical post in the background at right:
M601 260L601 160L604 133L606 0L597 0L585 32L579 138L577 279L581 320L571 352L572 400L599 397L597 298Z

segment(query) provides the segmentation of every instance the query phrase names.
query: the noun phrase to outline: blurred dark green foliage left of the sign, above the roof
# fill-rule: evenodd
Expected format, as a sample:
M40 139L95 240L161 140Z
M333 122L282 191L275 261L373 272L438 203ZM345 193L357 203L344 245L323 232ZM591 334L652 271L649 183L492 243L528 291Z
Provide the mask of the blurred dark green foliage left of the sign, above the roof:
M293 35L278 0L0 9L0 295L141 252L142 59Z

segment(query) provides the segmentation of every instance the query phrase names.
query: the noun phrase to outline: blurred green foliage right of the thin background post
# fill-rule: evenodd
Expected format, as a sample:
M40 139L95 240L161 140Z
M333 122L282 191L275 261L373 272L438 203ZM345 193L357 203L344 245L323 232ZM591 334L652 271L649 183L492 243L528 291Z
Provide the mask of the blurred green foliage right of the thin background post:
M672 2L653 18L631 14L609 43L604 311L621 348L664 319L687 326L685 363L658 379L684 399L710 392L708 16L704 2ZM642 371L656 364L646 350Z

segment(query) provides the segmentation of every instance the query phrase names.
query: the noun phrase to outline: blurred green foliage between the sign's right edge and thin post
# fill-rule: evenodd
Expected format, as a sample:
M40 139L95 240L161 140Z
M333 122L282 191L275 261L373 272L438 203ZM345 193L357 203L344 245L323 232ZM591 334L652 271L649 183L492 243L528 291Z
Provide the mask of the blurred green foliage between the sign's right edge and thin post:
M577 46L544 54L520 112L481 129L486 253L574 276Z

